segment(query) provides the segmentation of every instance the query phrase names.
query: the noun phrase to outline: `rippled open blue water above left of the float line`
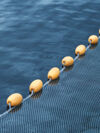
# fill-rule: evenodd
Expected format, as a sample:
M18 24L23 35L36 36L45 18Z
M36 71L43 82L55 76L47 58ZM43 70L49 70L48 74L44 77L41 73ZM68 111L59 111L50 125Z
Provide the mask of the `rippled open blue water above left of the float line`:
M0 113L9 95L26 97L31 81L47 81L49 69L75 57L76 46L99 28L100 0L1 0Z

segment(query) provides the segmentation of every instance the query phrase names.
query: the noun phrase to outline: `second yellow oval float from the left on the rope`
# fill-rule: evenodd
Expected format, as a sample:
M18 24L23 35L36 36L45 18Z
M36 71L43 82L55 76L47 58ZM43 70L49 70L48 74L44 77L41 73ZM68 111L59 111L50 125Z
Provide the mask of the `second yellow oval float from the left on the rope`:
M30 86L29 86L29 91L37 93L39 92L43 87L43 82L40 79L34 80Z

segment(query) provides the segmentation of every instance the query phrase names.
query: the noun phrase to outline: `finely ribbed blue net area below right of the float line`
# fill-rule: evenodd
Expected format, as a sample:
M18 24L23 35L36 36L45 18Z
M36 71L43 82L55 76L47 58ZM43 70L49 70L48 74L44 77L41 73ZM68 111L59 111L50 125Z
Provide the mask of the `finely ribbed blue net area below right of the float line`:
M100 46L0 118L0 133L99 133Z

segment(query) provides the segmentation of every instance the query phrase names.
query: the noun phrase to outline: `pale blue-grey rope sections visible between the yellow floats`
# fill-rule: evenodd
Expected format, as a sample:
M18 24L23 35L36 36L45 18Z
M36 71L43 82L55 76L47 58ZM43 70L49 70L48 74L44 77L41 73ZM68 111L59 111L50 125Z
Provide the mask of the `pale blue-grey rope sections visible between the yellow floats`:
M98 37L100 39L100 36ZM89 45L86 47L86 51L91 47L91 42L89 43ZM74 58L74 62L79 58L79 54L77 54L77 56ZM64 70L66 69L65 66L63 66L63 68L60 70L60 73L62 73ZM43 88L45 86L47 86L50 82L52 81L52 79L49 79L48 81L46 81L43 85ZM34 94L34 92L32 91L30 95L28 95L26 98L23 99L24 103L26 100L28 100L32 95ZM0 118L2 118L3 116L7 115L9 112L11 112L13 109L15 109L16 106L11 107L11 104L9 103L9 109L7 111L5 111L4 113L0 114Z

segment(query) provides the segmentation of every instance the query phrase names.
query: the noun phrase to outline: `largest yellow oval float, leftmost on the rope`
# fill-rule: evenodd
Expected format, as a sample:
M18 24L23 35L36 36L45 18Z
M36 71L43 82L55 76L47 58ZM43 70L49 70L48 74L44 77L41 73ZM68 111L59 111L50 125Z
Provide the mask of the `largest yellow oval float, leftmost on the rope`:
M10 95L7 99L7 104L11 105L11 106L18 106L22 103L23 101L23 97L21 94L19 93L14 93L12 95Z

